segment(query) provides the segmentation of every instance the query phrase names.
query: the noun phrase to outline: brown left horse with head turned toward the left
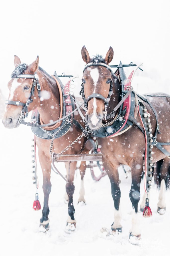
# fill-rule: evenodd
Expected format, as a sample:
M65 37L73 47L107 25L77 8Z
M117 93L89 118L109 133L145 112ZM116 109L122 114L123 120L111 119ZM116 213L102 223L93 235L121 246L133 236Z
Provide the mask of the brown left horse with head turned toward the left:
M10 90L8 101L18 101L26 103L33 84L33 79L18 78L18 75L23 74L37 74L39 77L39 83L41 86L41 95L38 97L38 90L35 87L34 95L32 95L32 102L28 106L28 112L37 108L40 113L41 122L43 124L50 123L50 120L58 120L60 116L60 94L59 89L54 78L47 74L42 68L38 67L39 57L31 65L21 64L20 59L15 56L14 65L15 70L12 73L12 79L8 82L8 88ZM33 97L34 96L34 97ZM5 109L5 113L2 118L2 122L6 128L12 129L19 126L19 117L21 114L22 106L8 104ZM80 115L74 115L74 119L80 122L82 125ZM51 127L46 127L48 130ZM75 140L77 136L82 133L80 128L74 124L71 125L70 130L65 133L60 138L54 140L53 149L55 152L60 152L63 150L70 142ZM26 133L25 133L26 136ZM69 149L68 154L78 154L82 150L86 138L82 138L79 143L75 144L74 147ZM43 191L44 191L44 207L42 211L42 218L40 219L40 231L45 232L49 229L49 207L48 198L51 192L51 156L49 154L50 139L42 139L36 137L36 145L38 147L38 156L43 172ZM84 151L86 153L86 150ZM89 152L89 150L87 150ZM68 164L66 164L68 172ZM74 194L74 173L76 169L76 162L72 162L70 166L70 180L66 184L66 192L68 195L68 220L66 228L68 230L74 230L76 220L74 218L75 209L73 206L73 194ZM84 162L80 166L81 174L81 193L79 201L85 201L84 199L84 187L83 187L83 177L85 174L86 165Z

